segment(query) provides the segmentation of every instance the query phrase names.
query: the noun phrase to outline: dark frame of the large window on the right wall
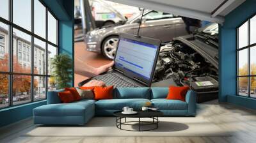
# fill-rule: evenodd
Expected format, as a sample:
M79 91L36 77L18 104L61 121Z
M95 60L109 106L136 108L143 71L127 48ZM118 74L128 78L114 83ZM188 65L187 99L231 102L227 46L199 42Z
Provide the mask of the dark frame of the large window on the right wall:
M250 31L250 24L251 24L251 22L250 22L250 20L253 18L253 17L256 17L256 13L254 13L253 15L251 15L248 19L246 19L244 22L242 22L239 26L237 26L236 27L236 84L237 84L237 86L236 86L236 95L237 96L243 96L243 95L241 95L241 94L239 94L239 78L241 78L241 77L244 77L244 78L248 78L247 80L247 96L243 96L243 97L247 97L247 98L253 98L253 99L255 99L256 97L252 97L251 96L251 78L252 77L256 77L256 75L252 75L251 74L251 63L250 63L250 59L251 59L251 54L250 54L250 52L251 52L251 49L253 48L253 47L255 47L256 46L256 43L252 43L252 44L250 44L250 39L251 39L251 35L250 35L250 33L251 33L251 31ZM241 48L239 48L239 27L241 27L241 26L243 26L243 24L245 24L246 22L248 22L248 43L247 43L247 45L246 46L244 46L244 47L241 47ZM244 50L244 49L247 49L247 55L248 55L248 61L247 61L247 63L248 63L248 67L247 67L247 75L239 75L239 51L241 51L241 50Z

